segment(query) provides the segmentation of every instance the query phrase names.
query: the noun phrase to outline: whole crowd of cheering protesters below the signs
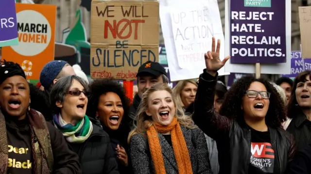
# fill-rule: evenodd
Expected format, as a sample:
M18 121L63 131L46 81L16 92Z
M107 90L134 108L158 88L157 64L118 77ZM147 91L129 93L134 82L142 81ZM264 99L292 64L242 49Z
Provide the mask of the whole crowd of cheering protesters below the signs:
M213 38L199 80L173 89L145 62L132 103L118 81L89 82L66 61L36 86L0 61L0 174L310 174L311 71L227 90L219 50Z

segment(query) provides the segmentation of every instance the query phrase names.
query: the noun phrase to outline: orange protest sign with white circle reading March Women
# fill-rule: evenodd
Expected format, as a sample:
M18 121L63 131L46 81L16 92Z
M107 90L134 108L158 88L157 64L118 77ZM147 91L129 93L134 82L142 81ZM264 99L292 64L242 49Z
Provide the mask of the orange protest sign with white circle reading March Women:
M16 4L17 46L3 47L2 58L17 62L27 79L39 79L45 64L54 59L56 6Z

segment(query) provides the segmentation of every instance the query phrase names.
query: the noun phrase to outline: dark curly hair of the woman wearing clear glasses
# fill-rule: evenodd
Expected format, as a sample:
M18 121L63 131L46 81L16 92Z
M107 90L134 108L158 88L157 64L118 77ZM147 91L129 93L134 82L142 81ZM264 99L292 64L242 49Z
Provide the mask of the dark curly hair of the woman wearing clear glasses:
M242 121L243 111L241 109L242 97L245 91L250 87L251 83L260 82L271 93L270 104L267 115L265 116L266 124L273 128L280 128L281 124L286 121L285 106L276 88L267 80L256 79L253 76L245 76L236 81L225 95L225 100L220 109L220 115L227 116L237 121Z

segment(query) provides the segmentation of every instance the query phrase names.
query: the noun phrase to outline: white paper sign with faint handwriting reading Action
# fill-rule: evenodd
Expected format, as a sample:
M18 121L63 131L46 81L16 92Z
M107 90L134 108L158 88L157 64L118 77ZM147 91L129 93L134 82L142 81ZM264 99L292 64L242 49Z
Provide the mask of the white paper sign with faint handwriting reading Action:
M205 66L204 54L212 37L221 40L220 58L225 58L225 39L217 0L160 0L161 27L171 81L198 78ZM218 71L226 75L225 69Z

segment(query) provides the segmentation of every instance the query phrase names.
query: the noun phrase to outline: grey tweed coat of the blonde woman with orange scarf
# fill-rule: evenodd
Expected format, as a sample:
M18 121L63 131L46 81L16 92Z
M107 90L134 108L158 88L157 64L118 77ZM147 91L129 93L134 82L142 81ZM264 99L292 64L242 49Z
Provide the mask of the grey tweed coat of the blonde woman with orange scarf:
M193 174L212 174L204 133L199 128L190 130L184 126L180 127L188 147ZM172 146L169 145L162 134L158 133L158 136L166 173L178 174ZM193 142L193 140L195 141ZM155 174L149 146L146 144L148 144L148 140L142 134L135 134L131 138L130 154L135 174Z

